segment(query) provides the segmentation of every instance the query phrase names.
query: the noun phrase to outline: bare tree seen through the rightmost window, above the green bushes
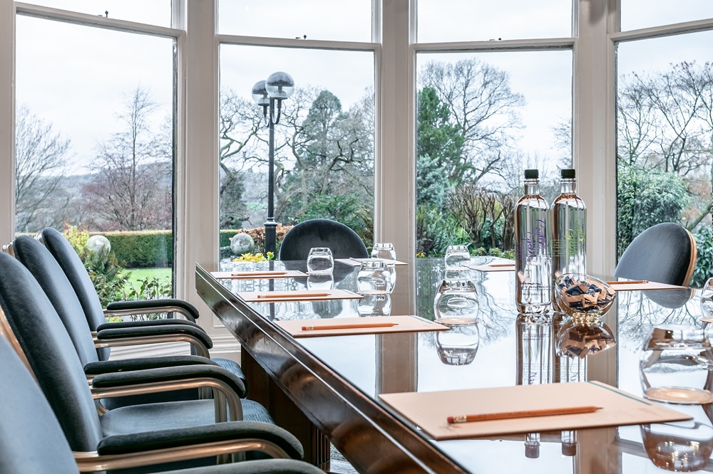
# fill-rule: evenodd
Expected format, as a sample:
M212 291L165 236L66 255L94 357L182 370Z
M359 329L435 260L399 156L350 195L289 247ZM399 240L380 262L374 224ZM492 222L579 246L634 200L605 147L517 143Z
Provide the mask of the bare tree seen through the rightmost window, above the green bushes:
M617 159L645 171L684 179L694 199L694 228L713 208L713 66L679 63L670 69L620 78Z

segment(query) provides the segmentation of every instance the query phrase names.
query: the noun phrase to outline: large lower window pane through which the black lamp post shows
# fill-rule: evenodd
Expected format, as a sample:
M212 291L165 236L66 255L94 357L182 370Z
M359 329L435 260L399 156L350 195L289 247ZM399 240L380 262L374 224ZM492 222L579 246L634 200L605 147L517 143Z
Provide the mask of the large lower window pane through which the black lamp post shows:
M374 53L222 45L220 228L245 229L262 252L267 217L268 130L252 86L276 72L294 79L275 125L275 220L347 224L367 245L374 221ZM277 228L277 242L287 229ZM251 230L252 229L252 230Z

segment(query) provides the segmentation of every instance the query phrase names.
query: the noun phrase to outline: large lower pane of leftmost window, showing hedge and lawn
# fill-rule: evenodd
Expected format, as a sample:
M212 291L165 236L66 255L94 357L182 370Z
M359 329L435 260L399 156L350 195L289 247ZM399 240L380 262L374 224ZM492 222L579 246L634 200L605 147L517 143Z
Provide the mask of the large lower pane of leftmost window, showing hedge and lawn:
M66 231L104 303L173 293L174 49L17 18L16 229Z

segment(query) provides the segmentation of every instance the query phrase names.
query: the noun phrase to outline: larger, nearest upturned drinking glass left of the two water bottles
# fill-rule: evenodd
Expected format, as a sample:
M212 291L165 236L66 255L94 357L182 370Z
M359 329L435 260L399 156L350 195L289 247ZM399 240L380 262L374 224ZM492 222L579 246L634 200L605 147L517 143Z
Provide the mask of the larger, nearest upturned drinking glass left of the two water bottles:
M443 280L434 299L436 322L471 325L478 322L478 295L471 280Z

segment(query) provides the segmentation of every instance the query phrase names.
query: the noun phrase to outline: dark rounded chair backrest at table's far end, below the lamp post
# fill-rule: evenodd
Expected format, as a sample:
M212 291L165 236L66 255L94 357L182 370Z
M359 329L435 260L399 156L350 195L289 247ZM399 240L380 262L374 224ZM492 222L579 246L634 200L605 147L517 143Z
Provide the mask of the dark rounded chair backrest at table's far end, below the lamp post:
M329 219L310 219L289 229L279 246L279 260L307 260L312 247L329 247L334 258L367 258L364 242L351 228Z

